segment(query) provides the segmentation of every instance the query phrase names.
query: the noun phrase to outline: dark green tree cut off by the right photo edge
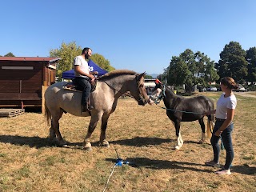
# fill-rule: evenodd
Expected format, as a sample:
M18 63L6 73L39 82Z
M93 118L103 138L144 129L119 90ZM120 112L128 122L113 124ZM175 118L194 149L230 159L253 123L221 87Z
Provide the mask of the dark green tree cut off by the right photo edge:
M247 82L256 82L256 47L246 50L246 62L248 62Z

